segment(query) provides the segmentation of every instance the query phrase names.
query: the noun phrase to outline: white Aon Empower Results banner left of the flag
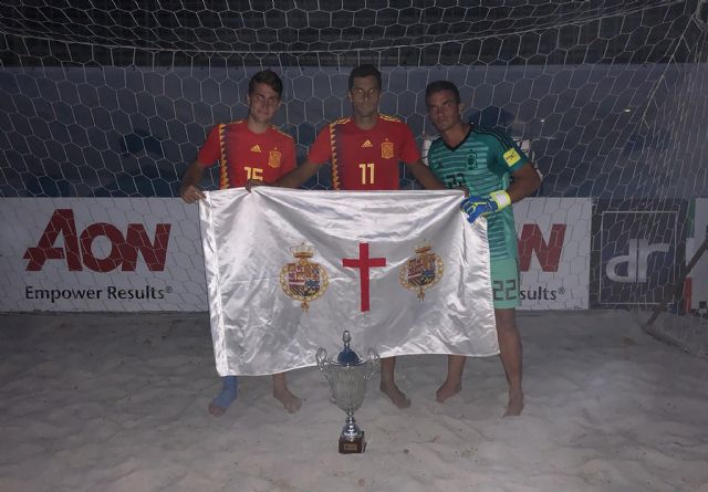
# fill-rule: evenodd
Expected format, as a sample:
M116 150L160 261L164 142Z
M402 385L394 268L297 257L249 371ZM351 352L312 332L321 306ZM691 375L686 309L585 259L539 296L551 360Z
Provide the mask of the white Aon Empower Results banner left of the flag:
M0 199L0 311L206 311L196 206Z

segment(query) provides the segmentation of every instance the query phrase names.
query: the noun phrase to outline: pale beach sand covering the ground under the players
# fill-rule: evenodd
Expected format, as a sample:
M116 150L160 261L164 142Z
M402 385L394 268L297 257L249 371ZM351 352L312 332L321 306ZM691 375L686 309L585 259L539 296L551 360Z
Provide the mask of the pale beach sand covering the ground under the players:
M708 359L626 312L520 312L525 409L501 418L498 357L435 390L445 356L398 358L412 398L368 384L363 454L337 453L344 412L315 367L241 377L221 417L208 314L2 314L0 491L708 492ZM332 353L336 347L326 347ZM356 347L355 347L356 348Z

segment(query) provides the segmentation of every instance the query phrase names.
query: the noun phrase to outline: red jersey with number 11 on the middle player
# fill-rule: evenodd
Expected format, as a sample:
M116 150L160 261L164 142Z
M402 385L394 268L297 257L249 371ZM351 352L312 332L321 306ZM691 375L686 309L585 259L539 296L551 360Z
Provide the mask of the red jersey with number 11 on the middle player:
M420 159L413 132L400 119L378 115L372 129L352 118L337 119L320 130L308 160L332 163L335 190L397 190L398 161Z

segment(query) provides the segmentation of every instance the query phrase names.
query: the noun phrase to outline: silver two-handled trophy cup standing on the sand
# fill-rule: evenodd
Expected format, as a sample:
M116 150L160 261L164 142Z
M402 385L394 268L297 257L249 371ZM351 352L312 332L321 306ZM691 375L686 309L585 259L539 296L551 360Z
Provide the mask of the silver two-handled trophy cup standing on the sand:
M378 353L369 348L366 358L361 358L356 352L350 348L352 335L344 331L342 335L344 348L340 350L336 359L327 358L327 352L320 347L315 358L317 366L330 383L332 399L346 412L346 421L340 435L340 452L364 452L366 440L364 431L360 429L354 419L354 411L364 402L366 381L376 371L378 366Z

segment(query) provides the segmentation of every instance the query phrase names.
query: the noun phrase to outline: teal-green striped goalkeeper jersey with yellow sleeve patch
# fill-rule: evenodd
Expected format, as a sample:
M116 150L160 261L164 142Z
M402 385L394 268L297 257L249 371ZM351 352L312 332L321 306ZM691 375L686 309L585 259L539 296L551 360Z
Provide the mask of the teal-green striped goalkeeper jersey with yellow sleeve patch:
M464 186L470 195L482 198L509 188L511 174L527 163L529 157L509 135L477 125L470 126L457 147L448 147L438 138L428 150L430 170L446 187ZM518 258L511 207L487 216L487 238L492 261Z

